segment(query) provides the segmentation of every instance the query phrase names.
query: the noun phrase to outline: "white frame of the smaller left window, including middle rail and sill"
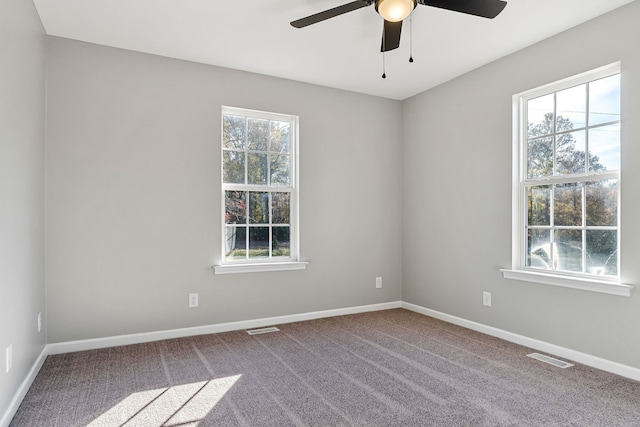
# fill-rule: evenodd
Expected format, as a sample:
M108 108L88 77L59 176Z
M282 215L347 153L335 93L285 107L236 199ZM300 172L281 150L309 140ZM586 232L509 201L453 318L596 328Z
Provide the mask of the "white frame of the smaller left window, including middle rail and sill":
M290 114L271 113L245 108L222 106L220 114L220 189L221 189L221 238L220 262L214 266L215 274L253 273L265 271L302 270L307 263L300 261L300 227L299 227L299 176L298 176L298 116ZM287 187L253 184L227 184L224 182L224 116L244 116L252 119L265 119L288 122L290 125L290 185ZM264 259L225 260L226 251L226 221L225 221L225 191L286 191L290 194L290 256ZM248 233L248 229L247 229Z

